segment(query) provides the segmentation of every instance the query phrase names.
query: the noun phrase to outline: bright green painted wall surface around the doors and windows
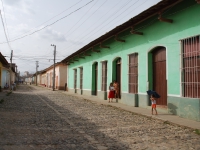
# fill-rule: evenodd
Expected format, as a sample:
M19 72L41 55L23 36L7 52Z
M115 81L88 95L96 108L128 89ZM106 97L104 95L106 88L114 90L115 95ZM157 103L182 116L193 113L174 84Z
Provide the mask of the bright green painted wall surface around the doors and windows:
M185 2L191 3L191 2ZM173 19L172 24L166 22L160 22L157 20L157 16L147 20L145 23L139 25L140 31L144 35L132 35L129 32L121 34L121 39L126 40L125 43L114 41L114 38L103 43L103 45L109 45L110 49L101 49L96 46L96 49L101 49L100 53L91 53L91 56L86 56L85 59L79 59L79 61L70 64L69 66L69 88L73 89L74 72L73 69L83 67L83 89L92 89L92 64L98 62L98 90L101 90L101 61L108 61L108 78L107 85L113 80L112 74L112 61L121 57L122 61L122 93L128 93L128 55L134 52L138 53L139 67L138 67L138 82L139 93L146 93L149 86L152 87L152 77L148 76L148 72L151 72L152 65L149 65L150 55L148 52L156 46L166 47L167 54L167 84L168 94L180 95L180 39L188 38L190 36L200 34L200 5L194 3L188 8L183 10L176 10L176 6L170 11L165 13L166 18ZM184 4L187 5L187 4ZM149 59L148 59L149 58ZM79 75L78 75L79 76ZM79 82L79 80L78 80ZM77 84L79 85L79 84Z

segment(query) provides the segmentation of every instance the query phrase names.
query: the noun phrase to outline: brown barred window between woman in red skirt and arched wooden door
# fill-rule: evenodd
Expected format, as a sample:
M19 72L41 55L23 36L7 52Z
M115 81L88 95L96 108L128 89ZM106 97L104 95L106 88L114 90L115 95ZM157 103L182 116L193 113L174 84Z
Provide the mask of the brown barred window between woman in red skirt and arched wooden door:
M138 93L138 54L129 55L129 93Z

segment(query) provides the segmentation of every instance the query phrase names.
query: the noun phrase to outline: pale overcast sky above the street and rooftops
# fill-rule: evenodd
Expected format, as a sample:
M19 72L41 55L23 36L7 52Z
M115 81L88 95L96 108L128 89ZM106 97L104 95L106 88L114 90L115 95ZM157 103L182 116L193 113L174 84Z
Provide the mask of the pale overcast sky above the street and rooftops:
M1 0L0 51L18 71L35 73L82 48L160 0Z

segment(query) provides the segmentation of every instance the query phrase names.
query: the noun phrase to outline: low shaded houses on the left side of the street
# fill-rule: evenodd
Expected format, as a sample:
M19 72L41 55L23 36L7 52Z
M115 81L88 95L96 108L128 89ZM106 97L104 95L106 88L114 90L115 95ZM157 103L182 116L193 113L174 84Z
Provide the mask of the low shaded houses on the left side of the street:
M11 68L11 69L10 69ZM18 74L16 72L16 64L8 63L5 57L0 52L0 86L4 88L6 85L10 86L18 81Z

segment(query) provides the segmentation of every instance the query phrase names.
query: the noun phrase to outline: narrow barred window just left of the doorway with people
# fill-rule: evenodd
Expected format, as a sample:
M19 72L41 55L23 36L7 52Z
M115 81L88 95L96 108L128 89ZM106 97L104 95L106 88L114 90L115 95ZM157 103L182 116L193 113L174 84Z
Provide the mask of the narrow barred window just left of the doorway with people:
M102 62L101 91L107 90L107 61Z

